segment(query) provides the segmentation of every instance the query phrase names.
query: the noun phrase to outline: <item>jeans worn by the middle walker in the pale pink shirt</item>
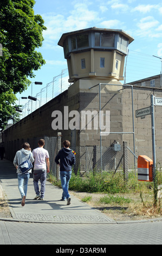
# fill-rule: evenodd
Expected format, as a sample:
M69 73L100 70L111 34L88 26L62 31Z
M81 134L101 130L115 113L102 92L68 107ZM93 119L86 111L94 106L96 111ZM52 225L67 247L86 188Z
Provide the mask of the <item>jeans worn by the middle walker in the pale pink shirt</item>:
M38 186L38 181L41 182L41 190ZM34 170L33 173L33 182L34 182L34 190L37 195L40 195L41 198L44 197L45 187L46 187L46 170Z

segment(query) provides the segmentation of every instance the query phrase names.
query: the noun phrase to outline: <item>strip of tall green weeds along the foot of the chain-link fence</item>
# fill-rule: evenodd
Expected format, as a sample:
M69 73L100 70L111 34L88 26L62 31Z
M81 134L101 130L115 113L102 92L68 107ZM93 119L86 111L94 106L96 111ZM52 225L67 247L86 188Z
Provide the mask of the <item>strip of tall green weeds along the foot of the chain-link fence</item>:
M50 182L61 187L61 181L56 181L56 178L50 174ZM162 180L161 180L162 184ZM127 183L124 182L124 173L117 172L88 172L81 176L79 172L72 173L72 178L69 182L69 190L78 192L105 192L110 194L116 193L136 193L146 192L153 189L153 182L138 181L134 171L129 172Z

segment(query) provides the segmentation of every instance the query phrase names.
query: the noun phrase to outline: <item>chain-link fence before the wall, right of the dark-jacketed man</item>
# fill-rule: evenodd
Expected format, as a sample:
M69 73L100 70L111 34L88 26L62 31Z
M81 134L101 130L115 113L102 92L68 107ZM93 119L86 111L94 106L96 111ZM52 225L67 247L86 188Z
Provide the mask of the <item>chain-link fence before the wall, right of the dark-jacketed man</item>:
M73 150L76 153L74 172L80 172L81 174L93 171L100 172L101 170L107 172L124 170L127 178L128 170L135 170L135 174L137 174L139 155L146 155L152 159L152 148L139 147L135 148L134 152L134 148L129 147L127 142L124 142L117 150L112 145L102 147L102 149L96 145L76 147ZM158 158L161 153L157 152L158 168L161 168L162 165L162 161Z

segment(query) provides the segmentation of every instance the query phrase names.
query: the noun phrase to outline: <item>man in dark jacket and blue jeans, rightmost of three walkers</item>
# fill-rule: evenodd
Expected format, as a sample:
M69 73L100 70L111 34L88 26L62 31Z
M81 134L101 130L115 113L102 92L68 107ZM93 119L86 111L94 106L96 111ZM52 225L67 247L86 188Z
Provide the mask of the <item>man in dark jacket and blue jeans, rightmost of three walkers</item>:
M65 201L67 199L67 205L69 205L71 201L68 188L69 181L72 176L72 165L75 164L75 155L73 153L73 150L69 149L69 147L70 142L64 141L63 148L55 157L55 162L60 165L60 179L63 190L61 201Z

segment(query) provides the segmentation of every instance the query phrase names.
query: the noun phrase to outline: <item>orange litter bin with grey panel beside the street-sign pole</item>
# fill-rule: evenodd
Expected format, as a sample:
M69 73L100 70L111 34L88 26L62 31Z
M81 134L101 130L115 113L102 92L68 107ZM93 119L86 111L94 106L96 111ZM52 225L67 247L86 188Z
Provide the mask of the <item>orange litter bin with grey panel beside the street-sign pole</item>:
M153 181L153 161L148 156L138 156L138 180Z

